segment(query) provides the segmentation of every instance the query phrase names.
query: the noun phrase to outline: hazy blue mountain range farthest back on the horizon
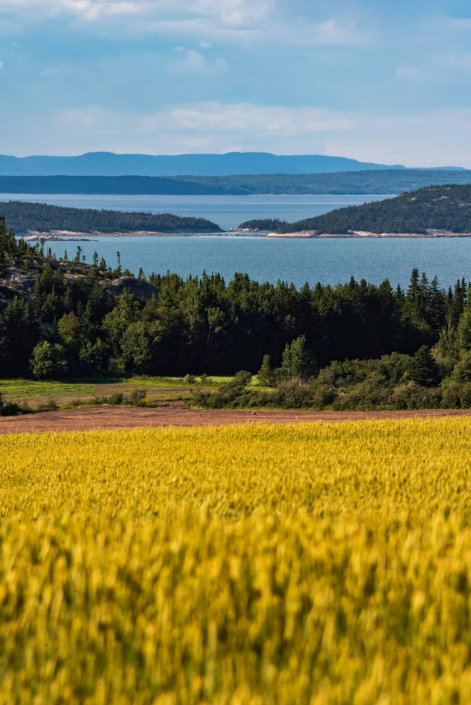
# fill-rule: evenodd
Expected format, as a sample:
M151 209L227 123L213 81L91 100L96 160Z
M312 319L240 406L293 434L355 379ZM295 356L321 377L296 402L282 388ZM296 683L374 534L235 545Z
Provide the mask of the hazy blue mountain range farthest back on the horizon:
M228 154L113 154L90 152L77 157L0 155L0 176L228 176L237 174L325 174L404 169L323 155L277 156L264 152Z

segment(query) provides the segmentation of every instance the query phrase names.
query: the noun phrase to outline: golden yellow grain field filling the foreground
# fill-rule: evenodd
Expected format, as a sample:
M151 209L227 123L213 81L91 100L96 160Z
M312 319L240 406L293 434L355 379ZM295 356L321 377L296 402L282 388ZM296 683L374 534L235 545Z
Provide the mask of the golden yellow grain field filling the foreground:
M471 420L0 438L1 703L469 703Z

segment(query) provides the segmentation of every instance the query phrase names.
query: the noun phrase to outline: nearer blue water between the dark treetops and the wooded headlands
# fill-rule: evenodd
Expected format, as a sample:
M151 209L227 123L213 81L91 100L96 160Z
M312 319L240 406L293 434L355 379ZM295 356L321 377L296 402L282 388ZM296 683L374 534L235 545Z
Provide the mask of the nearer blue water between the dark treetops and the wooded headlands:
M56 254L63 243L51 243ZM87 261L96 250L107 263L116 266L116 252L123 266L137 274L142 266L150 272L177 272L183 277L220 272L230 279L235 272L247 272L256 281L282 279L297 286L309 282L337 284L353 275L379 283L388 278L393 285L406 285L413 267L431 278L437 274L442 285L458 277L471 280L471 238L385 239L385 240L270 240L247 237L100 238L80 243ZM71 257L77 244L70 243Z

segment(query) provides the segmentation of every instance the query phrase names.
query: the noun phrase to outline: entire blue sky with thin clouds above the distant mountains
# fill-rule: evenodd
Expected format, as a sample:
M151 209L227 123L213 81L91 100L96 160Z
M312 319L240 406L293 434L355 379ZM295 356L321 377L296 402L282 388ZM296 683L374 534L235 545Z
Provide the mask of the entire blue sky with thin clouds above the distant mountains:
M0 153L471 168L469 0L0 0Z

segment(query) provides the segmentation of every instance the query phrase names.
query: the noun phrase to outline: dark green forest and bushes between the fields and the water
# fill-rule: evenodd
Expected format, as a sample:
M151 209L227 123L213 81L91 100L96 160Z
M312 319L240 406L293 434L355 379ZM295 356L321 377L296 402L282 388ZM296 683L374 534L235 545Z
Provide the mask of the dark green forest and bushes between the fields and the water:
M84 264L80 251L57 261L0 221L1 376L244 370L199 403L471 404L471 297L464 280L446 291L414 270L404 291L388 281L297 289L244 274L230 282L218 275L124 275L130 273L98 257ZM247 391L258 371L262 387Z

